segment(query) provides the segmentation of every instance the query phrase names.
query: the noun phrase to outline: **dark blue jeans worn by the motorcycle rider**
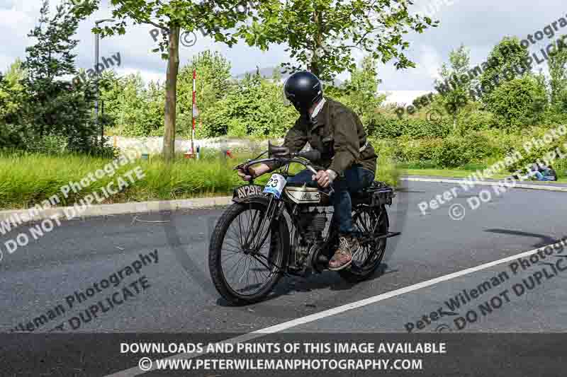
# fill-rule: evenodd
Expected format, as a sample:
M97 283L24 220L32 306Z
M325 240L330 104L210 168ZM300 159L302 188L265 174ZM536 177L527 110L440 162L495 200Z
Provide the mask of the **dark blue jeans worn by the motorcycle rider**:
M309 187L317 187L317 182L312 179L313 175L310 170L301 170L295 176L288 178L288 183L306 183ZM352 228L351 192L359 192L364 187L369 187L372 182L374 182L374 173L355 165L344 170L344 177L337 177L335 182L332 183L335 193L331 199L335 207L335 216L337 216L339 222L339 234L342 236L348 236L354 231Z

